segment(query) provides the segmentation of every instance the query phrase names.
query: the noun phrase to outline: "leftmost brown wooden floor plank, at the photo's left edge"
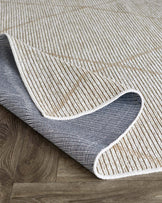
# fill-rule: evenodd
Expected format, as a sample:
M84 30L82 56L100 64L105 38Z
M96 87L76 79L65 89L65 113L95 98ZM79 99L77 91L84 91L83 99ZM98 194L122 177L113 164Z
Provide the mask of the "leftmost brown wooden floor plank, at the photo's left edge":
M0 202L8 202L23 143L25 126L0 106Z

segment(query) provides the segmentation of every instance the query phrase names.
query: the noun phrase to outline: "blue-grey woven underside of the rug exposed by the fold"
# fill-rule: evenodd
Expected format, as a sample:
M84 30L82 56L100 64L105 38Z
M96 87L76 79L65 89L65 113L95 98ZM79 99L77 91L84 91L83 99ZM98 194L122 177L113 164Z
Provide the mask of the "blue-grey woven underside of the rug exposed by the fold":
M92 171L97 153L136 118L141 98L136 93L127 93L104 108L73 120L44 118L26 91L6 36L1 35L0 104Z

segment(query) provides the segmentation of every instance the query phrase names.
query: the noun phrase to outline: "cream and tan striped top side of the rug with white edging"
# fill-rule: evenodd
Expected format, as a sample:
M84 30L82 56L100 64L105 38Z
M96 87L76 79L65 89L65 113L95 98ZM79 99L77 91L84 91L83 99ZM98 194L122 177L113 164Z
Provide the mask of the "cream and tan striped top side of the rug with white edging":
M0 9L0 33L45 117L75 118L132 89L142 93L141 115L97 156L94 173L161 171L162 2L0 0Z

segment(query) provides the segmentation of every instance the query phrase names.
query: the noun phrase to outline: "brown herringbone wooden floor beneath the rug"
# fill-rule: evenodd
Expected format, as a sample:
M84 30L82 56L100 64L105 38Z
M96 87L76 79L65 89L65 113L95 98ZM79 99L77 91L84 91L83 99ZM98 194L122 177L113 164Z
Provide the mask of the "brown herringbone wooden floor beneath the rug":
M162 203L162 173L99 180L0 106L1 203Z

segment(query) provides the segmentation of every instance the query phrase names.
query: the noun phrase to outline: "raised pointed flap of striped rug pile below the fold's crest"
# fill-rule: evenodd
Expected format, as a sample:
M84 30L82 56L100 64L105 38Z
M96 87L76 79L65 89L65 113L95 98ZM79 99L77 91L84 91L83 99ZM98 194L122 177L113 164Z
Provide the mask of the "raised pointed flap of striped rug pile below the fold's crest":
M47 118L75 118L128 91L112 79L103 79L92 71L9 39L22 79Z

